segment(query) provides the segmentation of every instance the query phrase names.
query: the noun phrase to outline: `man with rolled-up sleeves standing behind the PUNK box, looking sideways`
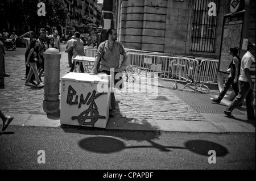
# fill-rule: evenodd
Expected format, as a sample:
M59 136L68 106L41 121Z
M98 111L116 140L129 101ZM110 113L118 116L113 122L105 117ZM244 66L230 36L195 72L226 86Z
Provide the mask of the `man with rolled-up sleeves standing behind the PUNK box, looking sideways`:
M119 42L117 42L117 30L110 28L107 32L108 40L102 42L96 52L96 58L94 63L93 74L106 73L108 75L114 74L114 85L120 80L115 79L115 75L121 72L125 68L127 56L125 48ZM119 64L120 54L123 56L122 64ZM101 61L100 61L101 59ZM100 62L99 62L100 61ZM100 69L97 69L100 64ZM111 72L114 70L114 73ZM121 77L122 79L122 77ZM115 96L114 92L111 92L111 104L109 109L109 117L113 117L113 110L115 110Z

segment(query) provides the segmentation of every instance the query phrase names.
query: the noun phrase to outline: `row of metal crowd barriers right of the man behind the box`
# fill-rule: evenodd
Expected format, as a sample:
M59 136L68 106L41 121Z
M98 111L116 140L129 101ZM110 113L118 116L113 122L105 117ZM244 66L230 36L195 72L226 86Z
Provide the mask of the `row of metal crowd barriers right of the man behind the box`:
M162 56L158 53L127 53L126 68L132 67L135 74L158 73L161 79L217 84L218 60L189 58L185 56ZM201 86L198 85L198 86Z

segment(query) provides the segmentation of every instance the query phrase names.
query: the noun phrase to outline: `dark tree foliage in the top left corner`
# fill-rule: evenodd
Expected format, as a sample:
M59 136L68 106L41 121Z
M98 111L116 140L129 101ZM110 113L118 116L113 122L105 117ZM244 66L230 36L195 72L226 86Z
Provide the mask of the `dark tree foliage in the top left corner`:
M46 16L38 15L40 2L46 5ZM3 18L40 27L65 26L68 14L64 0L1 0L0 6Z

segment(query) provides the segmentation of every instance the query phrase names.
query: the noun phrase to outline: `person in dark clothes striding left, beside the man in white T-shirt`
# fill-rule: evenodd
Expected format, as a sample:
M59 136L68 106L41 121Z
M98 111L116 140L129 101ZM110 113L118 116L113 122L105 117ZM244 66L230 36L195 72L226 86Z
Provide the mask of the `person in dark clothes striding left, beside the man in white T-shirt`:
M232 61L229 64L227 72L229 72L229 77L226 79L223 90L220 92L217 98L211 98L213 102L220 103L224 98L226 92L229 90L229 87L232 86L236 96L239 92L238 87L238 78L240 76L240 68L241 68L241 58L238 56L239 48L231 47L229 54L232 56ZM241 107L242 103L238 105Z

